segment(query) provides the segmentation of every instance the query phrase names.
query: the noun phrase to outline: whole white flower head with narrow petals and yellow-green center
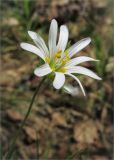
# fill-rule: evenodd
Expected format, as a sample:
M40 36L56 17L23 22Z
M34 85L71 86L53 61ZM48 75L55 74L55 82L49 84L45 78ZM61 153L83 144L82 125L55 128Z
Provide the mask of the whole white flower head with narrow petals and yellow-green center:
M85 38L75 43L70 48L66 49L68 42L69 32L65 25L60 27L60 35L57 42L57 31L58 24L55 19L52 20L49 30L49 40L47 48L44 40L39 34L28 31L29 36L32 38L36 46L29 43L21 43L21 47L27 51L30 51L44 60L44 64L34 70L36 76L42 77L51 72L55 73L55 78L53 81L53 86L56 89L60 89L65 83L65 75L69 75L74 78L80 85L83 94L85 95L84 88L80 80L73 75L83 74L92 77L97 80L101 80L94 72L91 70L77 66L82 62L86 61L97 61L93 58L80 56L77 58L72 58L75 54L85 48L91 41L90 38Z

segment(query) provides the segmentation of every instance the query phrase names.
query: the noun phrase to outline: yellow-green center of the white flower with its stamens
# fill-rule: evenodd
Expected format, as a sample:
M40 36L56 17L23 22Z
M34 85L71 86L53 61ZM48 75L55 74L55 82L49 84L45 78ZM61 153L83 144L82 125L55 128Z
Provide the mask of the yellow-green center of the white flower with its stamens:
M66 71L64 65L70 60L70 57L68 54L68 50L66 50L65 52L59 50L55 53L52 59L46 57L45 60L50 65L53 71L59 71L64 73Z

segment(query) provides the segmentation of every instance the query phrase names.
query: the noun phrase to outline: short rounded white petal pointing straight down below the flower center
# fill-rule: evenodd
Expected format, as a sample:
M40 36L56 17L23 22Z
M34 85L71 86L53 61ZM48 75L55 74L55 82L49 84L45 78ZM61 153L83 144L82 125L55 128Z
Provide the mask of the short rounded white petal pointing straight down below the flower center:
M60 72L55 72L55 79L53 81L53 86L56 89L60 89L65 83L65 75Z

